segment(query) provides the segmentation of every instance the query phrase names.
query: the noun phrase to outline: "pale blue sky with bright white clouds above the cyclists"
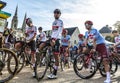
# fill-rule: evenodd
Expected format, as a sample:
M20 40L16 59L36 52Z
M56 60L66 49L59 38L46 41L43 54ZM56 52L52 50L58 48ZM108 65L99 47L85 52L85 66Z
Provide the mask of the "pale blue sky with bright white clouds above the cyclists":
M113 24L120 21L120 0L2 0L7 2L3 11L12 16L8 19L10 27L12 17L18 5L18 27L22 26L25 13L32 18L35 26L42 26L43 30L51 29L54 21L53 11L59 8L64 27L78 27L85 33L84 22L93 21L98 30L105 25L114 28Z

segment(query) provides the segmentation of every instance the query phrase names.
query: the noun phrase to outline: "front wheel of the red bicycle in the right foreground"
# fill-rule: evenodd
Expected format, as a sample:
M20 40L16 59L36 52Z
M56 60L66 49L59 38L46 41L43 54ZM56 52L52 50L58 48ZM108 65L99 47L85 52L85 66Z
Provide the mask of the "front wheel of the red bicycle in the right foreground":
M82 79L89 79L96 73L97 63L96 60L92 58L89 65L86 65L85 62L85 55L78 55L74 60L73 68L78 77Z

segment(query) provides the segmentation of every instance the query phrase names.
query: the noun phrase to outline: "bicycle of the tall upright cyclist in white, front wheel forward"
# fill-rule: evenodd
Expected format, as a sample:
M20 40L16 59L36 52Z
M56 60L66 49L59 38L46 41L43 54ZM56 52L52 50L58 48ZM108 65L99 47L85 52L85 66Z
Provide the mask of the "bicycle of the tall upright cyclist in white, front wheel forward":
M36 54L35 75L38 81L44 78L49 68L50 73L54 70L53 65L55 64L55 59L52 51L53 47L49 42L50 41L47 41L47 45L43 48L43 50Z

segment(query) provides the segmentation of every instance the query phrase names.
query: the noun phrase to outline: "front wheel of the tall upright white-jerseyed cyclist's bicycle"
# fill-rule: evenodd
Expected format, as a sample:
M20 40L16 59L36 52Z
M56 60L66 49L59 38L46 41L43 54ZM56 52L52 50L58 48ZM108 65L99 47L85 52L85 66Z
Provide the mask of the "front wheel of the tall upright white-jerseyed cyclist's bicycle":
M43 55L43 53L36 53L35 75L38 81L45 76L48 69L47 57Z

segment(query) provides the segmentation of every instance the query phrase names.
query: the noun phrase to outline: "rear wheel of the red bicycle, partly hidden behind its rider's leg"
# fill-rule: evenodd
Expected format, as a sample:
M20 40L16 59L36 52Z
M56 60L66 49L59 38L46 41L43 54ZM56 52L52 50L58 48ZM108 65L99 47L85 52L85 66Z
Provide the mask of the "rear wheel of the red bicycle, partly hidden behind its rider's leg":
M118 64L114 61L114 60L111 60L109 62L109 67L110 67L110 74L114 74L116 73L117 69L118 69ZM106 77L106 72L105 72L105 68L104 68L104 65L101 63L100 64L100 74L103 76L103 77Z

